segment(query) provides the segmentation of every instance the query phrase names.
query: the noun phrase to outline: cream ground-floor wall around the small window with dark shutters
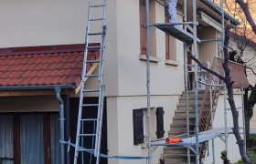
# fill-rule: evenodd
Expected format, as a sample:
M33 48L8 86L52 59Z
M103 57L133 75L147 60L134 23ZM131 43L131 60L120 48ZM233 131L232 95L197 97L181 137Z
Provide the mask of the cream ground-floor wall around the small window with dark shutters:
M169 125L175 115L177 96L153 96L151 97L152 110L163 107L165 110L165 137L169 131ZM133 146L133 109L146 108L146 97L108 97L108 149L109 155L120 156L143 156L147 157L145 144ZM144 118L146 115L144 113ZM155 119L155 112L152 112L152 120ZM152 123L152 128L155 125ZM145 134L147 136L147 132ZM155 130L152 130L155 136ZM153 138L154 139L154 138ZM147 141L145 141L147 142ZM163 148L159 147L153 154L152 163L158 163ZM133 160L133 164L144 163L144 160ZM130 164L131 160L109 159L111 164Z

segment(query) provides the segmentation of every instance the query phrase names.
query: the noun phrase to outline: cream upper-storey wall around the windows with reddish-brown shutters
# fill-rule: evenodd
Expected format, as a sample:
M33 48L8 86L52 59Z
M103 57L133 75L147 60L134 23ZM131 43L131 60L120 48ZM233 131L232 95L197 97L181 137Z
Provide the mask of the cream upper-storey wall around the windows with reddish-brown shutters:
M133 11L133 12L131 12ZM165 22L165 8L155 4L155 22ZM140 28L139 1L117 1L117 44L118 44L118 91L119 96L146 94L146 62L139 60ZM165 33L155 31L156 57L160 62L151 62L151 94L178 95L183 90L183 44L177 43L179 66L165 65ZM165 77L165 78L164 78ZM176 78L174 78L176 77ZM159 80L163 79L163 80Z

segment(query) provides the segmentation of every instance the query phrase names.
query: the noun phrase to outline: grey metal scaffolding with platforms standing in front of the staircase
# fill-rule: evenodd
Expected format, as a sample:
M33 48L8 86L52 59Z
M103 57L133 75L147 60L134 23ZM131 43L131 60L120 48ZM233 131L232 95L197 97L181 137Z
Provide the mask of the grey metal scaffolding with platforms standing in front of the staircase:
M158 0L155 0L158 4L163 5ZM210 1L210 0L209 0ZM220 42L219 45L222 47L224 46L224 24L225 24L225 13L224 13L224 0L220 2L220 12L221 12L221 26L222 26L222 38L217 39L208 39L208 40L200 40L197 38L197 0L193 0L193 21L187 22L187 0L184 0L184 22L182 23L175 23L175 24L150 24L149 23L149 0L145 0L146 5L146 87L147 87L147 148L148 148L148 157L152 156L152 153L157 149L159 146L167 146L167 147L187 147L187 163L190 164L190 150L192 150L196 154L196 163L199 164L199 146L200 143L206 142L208 140L212 140L212 151L213 151L213 163L215 163L215 156L214 156L214 138L221 138L225 143L225 150L228 150L228 135L231 133L231 128L228 128L227 122L227 97L226 97L226 85L225 84L207 84L198 81L197 77L197 63L194 65L187 65L187 48L193 46L193 54L197 58L197 43L203 42ZM210 1L213 5L215 5L215 1ZM165 6L165 5L164 5ZM179 14L179 13L177 13ZM182 14L179 14L182 15ZM179 25L183 25L184 28L179 27ZM192 26L192 28L191 28ZM152 27L152 29L150 29ZM184 42L184 79L185 79L185 90L186 90L186 108L187 108L187 138L182 139L182 142L174 143L174 144L166 144L166 143L159 143L161 139L152 140L151 139L151 112L150 112L150 35L158 28L165 32L170 36L176 37L176 39ZM187 28L192 32L192 34L187 32ZM222 57L224 56L224 52L222 51ZM223 57L224 58L224 57ZM224 60L223 60L224 61ZM194 82L195 82L195 112L196 112L196 134L195 136L191 137L189 133L189 110L188 110L188 83L187 83L187 75L188 75L188 67L194 68ZM224 71L223 71L224 73ZM223 75L225 77L225 73ZM199 122L198 122L198 100L197 100L197 91L198 91L198 83L201 85L205 85L209 87L210 92L210 112L211 112L211 128L207 131L199 133ZM212 88L213 87L223 87L223 94L224 94L224 120L225 120L225 127L224 128L213 128L213 104L212 104ZM243 102L243 84L241 84L241 100ZM239 109L239 108L237 108ZM244 106L242 104L242 118L243 118L243 138L246 138L245 133L245 123L244 123ZM225 138L222 138L224 135ZM162 139L163 140L163 139ZM193 147L196 147L194 149ZM246 146L244 147L246 149ZM228 151L227 151L228 152ZM151 158L147 159L147 164L151 163Z

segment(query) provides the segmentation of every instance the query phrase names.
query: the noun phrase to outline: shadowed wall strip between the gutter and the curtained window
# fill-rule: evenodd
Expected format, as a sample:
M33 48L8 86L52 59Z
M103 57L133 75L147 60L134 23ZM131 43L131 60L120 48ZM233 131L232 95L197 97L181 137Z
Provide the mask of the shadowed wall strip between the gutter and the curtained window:
M54 96L0 97L0 112L52 112L59 111Z

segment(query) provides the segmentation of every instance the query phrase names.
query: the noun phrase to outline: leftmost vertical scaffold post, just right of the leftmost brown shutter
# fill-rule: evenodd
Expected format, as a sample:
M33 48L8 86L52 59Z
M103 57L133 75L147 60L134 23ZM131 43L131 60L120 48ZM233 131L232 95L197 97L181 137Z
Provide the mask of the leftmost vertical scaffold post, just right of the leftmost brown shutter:
M147 149L148 157L151 157L151 113L150 113L150 31L149 31L149 0L145 0L146 5L146 88L147 88ZM151 159L147 159L147 164Z

